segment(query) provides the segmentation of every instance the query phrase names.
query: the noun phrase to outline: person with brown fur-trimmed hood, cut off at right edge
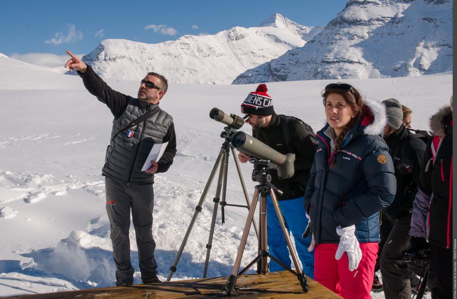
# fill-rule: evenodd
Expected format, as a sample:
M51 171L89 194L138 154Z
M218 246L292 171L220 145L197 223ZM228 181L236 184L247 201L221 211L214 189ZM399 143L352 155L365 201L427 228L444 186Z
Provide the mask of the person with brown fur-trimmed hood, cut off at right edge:
M441 108L430 119L435 137L427 144L411 219L411 252L430 248L432 299L453 295L453 111ZM428 242L427 242L428 240Z

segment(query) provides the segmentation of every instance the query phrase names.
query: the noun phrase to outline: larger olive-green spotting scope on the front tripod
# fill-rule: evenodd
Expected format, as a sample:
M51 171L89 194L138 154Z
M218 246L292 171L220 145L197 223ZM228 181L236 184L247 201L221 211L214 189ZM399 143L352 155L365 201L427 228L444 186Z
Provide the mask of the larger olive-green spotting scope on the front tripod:
M278 176L281 179L294 175L295 154L293 153L282 154L244 132L237 132L232 136L232 145L242 152L276 164Z

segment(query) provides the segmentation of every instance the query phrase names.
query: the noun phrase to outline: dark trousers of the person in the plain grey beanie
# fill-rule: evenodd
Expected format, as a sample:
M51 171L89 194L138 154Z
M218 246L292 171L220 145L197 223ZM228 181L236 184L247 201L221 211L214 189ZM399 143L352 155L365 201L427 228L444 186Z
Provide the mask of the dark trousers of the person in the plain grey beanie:
M410 248L411 215L395 221L392 231L384 244L380 266L386 299L410 299L410 270L402 260Z

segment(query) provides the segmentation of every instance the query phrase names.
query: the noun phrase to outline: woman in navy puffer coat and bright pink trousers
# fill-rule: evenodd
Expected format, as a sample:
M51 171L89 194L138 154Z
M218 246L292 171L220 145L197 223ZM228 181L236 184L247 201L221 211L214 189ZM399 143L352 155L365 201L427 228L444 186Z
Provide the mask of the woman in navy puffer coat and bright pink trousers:
M379 211L396 191L394 165L381 137L385 111L378 102L363 101L349 84L329 84L322 97L327 125L316 134L305 192L314 278L344 298L371 298Z

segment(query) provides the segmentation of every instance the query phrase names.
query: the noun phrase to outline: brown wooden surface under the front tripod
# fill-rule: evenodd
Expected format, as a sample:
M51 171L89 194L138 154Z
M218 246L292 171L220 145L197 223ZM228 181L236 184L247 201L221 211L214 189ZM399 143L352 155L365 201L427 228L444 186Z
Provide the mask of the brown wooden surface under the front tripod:
M47 293L11 297L15 299L133 299L133 298L220 298L227 277L172 281L131 287L112 287L79 290L70 292ZM324 286L308 279L309 292L303 293L295 276L287 271L267 275L243 275L237 280L238 290L232 293L236 298L301 298L327 299L341 298Z

